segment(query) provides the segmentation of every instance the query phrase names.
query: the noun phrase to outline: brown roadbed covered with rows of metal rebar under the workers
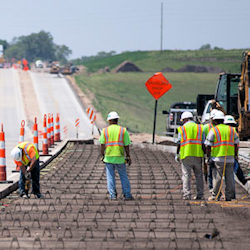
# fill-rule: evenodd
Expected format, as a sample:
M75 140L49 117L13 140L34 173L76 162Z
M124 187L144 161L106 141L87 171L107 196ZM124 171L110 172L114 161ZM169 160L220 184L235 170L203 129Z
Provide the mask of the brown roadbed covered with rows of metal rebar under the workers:
M110 201L98 146L69 143L41 171L45 199L1 201L0 249L247 249L248 208L183 201L173 155L132 147L131 156L135 199Z

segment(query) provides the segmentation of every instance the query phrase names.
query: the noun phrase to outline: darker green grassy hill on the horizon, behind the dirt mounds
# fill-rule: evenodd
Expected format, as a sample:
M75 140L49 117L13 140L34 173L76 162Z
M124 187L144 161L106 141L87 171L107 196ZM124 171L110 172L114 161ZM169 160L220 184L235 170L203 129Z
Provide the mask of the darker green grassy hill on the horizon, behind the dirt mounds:
M114 69L125 60L135 63L144 72L162 71L166 67L179 69L187 64L218 67L226 72L240 71L244 49L233 50L165 50L124 52L102 59L92 59L84 63L89 72L108 66Z

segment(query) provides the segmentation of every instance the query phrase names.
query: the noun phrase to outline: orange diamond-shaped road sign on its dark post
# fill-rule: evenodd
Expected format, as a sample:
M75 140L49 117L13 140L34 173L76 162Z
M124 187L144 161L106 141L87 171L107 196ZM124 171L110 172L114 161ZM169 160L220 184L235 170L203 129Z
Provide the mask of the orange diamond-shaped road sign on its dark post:
M148 92L155 99L155 111L154 111L154 126L153 126L153 140L152 144L155 143L155 128L156 128L156 117L157 117L157 105L158 99L162 97L166 92L168 92L172 85L171 83L164 77L161 72L155 73L151 76L145 83Z

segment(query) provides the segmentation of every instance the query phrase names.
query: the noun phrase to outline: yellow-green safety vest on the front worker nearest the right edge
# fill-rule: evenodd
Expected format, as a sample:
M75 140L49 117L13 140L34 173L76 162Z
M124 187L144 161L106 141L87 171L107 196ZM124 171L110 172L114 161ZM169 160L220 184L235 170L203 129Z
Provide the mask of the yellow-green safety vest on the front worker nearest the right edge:
M234 156L234 128L219 124L212 128L215 134L215 140L212 146L211 156Z

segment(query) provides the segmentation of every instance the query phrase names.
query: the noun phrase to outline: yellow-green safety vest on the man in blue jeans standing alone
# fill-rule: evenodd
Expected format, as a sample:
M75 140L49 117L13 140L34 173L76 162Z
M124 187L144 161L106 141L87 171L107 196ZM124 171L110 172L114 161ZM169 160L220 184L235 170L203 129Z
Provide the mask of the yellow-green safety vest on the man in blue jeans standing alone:
M111 125L103 129L105 137L105 156L124 156L124 134L126 129Z

